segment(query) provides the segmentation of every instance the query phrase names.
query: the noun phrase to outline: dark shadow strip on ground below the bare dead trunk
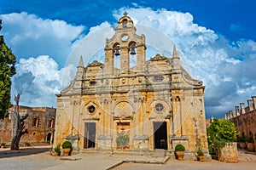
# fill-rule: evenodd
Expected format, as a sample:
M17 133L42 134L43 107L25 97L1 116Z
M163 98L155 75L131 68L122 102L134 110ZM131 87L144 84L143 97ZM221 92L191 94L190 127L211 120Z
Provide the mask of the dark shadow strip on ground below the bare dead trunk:
M29 156L49 151L49 147L41 148L21 148L20 150L1 150L0 158L15 157L15 156Z

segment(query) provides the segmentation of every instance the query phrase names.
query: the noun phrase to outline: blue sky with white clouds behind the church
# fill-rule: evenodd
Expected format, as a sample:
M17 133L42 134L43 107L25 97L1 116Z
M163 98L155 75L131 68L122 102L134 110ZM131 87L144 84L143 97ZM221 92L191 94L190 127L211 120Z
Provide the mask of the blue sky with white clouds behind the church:
M138 25L172 39L184 67L207 87L207 117L223 116L256 95L255 8L253 0L0 0L0 33L17 57L12 95L22 88L21 105L55 106L54 94L76 70L74 49L128 11Z

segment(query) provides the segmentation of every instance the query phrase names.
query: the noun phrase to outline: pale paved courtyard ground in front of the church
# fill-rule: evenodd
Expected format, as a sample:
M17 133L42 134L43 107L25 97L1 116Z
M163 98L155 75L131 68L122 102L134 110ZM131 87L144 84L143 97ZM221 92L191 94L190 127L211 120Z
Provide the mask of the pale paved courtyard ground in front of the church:
M152 158L148 156L123 156L109 154L80 154L69 156L67 160L61 157L49 156L49 146L21 148L20 150L0 150L0 169L2 170L65 170L65 169L94 169L94 170L153 170L153 169L247 169L256 167L255 153L241 152L238 163L225 163L221 161L177 161L165 158ZM62 157L64 158L64 157ZM125 161L152 162L152 163L126 163ZM166 161L164 164L157 162Z

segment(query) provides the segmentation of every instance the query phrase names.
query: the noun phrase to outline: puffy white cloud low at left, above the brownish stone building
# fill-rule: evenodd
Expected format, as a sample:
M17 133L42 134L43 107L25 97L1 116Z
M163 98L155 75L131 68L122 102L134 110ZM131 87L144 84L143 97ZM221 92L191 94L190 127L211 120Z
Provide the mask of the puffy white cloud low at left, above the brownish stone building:
M55 94L62 87L67 87L74 71L74 65L59 70L58 64L48 55L20 59L16 65L17 74L12 81L12 97L21 92L20 105L55 107Z

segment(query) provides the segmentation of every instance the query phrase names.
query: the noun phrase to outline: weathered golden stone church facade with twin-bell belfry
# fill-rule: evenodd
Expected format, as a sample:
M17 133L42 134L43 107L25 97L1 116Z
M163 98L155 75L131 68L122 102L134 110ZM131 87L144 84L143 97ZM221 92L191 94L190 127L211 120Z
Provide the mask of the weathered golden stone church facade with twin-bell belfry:
M55 144L70 140L73 150L113 152L172 152L183 144L188 153L198 146L208 153L205 87L170 48L172 56L146 60L146 37L125 13L106 39L105 63L84 67L80 57L73 82L56 94Z

